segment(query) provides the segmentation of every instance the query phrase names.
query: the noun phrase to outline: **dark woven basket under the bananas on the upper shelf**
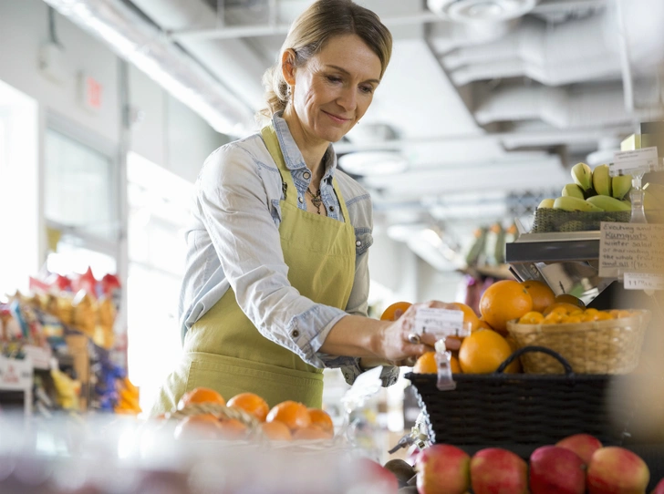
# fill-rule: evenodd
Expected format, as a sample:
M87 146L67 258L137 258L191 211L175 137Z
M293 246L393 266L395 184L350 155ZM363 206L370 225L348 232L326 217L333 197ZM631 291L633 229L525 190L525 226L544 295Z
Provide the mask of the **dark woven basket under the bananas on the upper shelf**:
M629 222L632 211L562 211L540 208L534 211L531 233L585 232L599 230L602 221Z

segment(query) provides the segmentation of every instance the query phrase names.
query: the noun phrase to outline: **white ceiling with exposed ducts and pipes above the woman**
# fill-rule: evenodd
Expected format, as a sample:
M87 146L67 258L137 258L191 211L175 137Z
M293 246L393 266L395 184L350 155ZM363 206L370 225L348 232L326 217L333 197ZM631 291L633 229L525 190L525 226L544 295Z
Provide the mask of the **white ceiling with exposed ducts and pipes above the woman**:
M96 1L129 7L178 57L203 67L218 85L216 100L233 105L245 127L263 105L265 68L311 4ZM355 170L374 198L378 228L435 227L458 247L477 226L511 222L558 195L571 165L610 160L639 122L664 117L661 0L358 3L389 26L394 50L361 125L335 147L342 168L350 153L406 160L400 172L381 172L381 160ZM501 19L510 9L514 18Z

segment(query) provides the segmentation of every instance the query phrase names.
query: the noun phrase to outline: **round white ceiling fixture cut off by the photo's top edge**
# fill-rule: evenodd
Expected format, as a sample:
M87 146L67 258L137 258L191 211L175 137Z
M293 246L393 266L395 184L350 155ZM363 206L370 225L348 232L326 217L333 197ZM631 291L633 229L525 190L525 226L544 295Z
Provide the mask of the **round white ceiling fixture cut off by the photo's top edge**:
M427 0L427 5L456 22L501 22L527 14L537 0Z

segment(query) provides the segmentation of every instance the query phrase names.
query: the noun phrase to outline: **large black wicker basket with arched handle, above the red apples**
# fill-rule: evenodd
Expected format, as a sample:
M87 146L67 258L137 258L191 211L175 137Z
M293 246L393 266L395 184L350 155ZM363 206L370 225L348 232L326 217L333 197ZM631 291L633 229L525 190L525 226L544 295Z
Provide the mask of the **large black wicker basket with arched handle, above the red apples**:
M552 355L565 374L503 374L524 352ZM541 446L583 432L605 445L621 445L628 437L629 411L621 410L617 416L622 423L615 423L607 410L607 386L618 377L577 375L562 356L545 347L520 348L491 375L454 375L453 391L440 391L433 374L408 373L406 378L415 387L433 442Z

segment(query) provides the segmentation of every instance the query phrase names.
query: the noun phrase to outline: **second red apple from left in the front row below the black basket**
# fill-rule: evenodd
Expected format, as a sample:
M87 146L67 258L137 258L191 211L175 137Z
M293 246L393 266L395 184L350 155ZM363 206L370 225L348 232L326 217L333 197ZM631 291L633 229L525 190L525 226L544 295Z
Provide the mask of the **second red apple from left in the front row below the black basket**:
M471 459L472 490L475 494L525 494L528 465L523 458L503 448L486 448Z

